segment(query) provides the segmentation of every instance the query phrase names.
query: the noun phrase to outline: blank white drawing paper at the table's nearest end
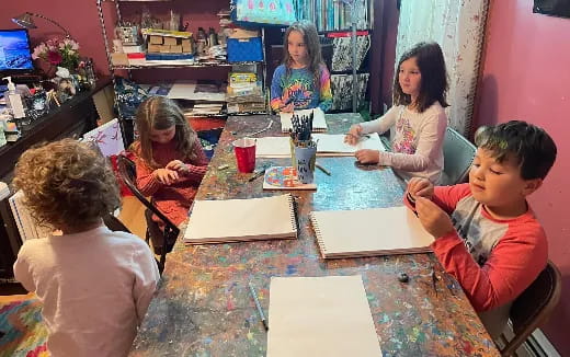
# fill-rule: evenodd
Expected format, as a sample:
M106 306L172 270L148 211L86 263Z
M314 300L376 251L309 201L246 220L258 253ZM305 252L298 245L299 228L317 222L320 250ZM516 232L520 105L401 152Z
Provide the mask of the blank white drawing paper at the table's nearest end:
M267 357L381 357L362 277L272 277Z

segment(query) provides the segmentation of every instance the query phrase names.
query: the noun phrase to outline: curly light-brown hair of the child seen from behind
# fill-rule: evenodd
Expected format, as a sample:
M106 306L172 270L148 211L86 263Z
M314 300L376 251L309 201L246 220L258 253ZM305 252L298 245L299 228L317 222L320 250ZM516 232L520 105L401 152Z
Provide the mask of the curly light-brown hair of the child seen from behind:
M73 139L25 151L15 166L14 185L37 222L58 229L95 223L121 201L106 159Z

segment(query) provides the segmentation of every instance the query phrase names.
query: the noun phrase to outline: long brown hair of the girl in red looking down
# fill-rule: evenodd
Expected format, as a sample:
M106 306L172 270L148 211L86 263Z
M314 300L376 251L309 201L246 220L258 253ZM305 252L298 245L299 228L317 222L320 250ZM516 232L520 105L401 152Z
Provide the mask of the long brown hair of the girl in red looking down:
M184 113L174 101L166 96L149 97L138 107L136 123L139 138L133 149L150 168L160 168L152 157L150 130L164 130L173 125L176 130L173 140L176 141L178 152L182 154L183 159L196 160L197 157L192 150L198 140L196 131L192 129Z

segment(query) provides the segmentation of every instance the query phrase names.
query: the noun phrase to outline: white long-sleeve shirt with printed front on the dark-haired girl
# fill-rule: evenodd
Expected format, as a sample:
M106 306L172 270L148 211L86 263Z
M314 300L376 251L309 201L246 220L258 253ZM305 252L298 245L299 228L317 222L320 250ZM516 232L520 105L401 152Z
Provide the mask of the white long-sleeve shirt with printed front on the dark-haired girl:
M440 102L423 113L395 105L376 120L361 124L363 134L383 134L390 128L392 152L380 151L378 164L391 166L406 181L425 177L437 184L443 170L443 140L447 117Z

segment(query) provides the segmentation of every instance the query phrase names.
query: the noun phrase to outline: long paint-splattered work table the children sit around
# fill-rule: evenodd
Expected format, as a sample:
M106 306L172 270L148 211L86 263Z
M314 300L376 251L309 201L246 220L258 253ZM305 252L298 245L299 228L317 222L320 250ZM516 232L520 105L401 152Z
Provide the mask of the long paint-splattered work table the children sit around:
M228 118L197 199L261 197L263 178L236 171L231 141L267 126L266 116ZM358 114L327 115L329 133L345 133ZM278 118L258 136L281 135ZM272 161L286 165L290 160ZM318 191L294 192L298 240L186 246L167 257L162 283L134 343L132 356L265 356L266 333L248 289L252 281L267 313L272 276L363 277L384 356L499 356L458 284L433 254L328 260L320 257L308 221L311 210L402 205L402 186L390 169L365 168L354 158L319 158L331 173L316 172ZM224 165L228 169L220 170ZM212 217L216 224L216 217ZM383 229L371 222L371 229ZM435 269L436 289L431 272ZM399 283L407 273L409 283Z

